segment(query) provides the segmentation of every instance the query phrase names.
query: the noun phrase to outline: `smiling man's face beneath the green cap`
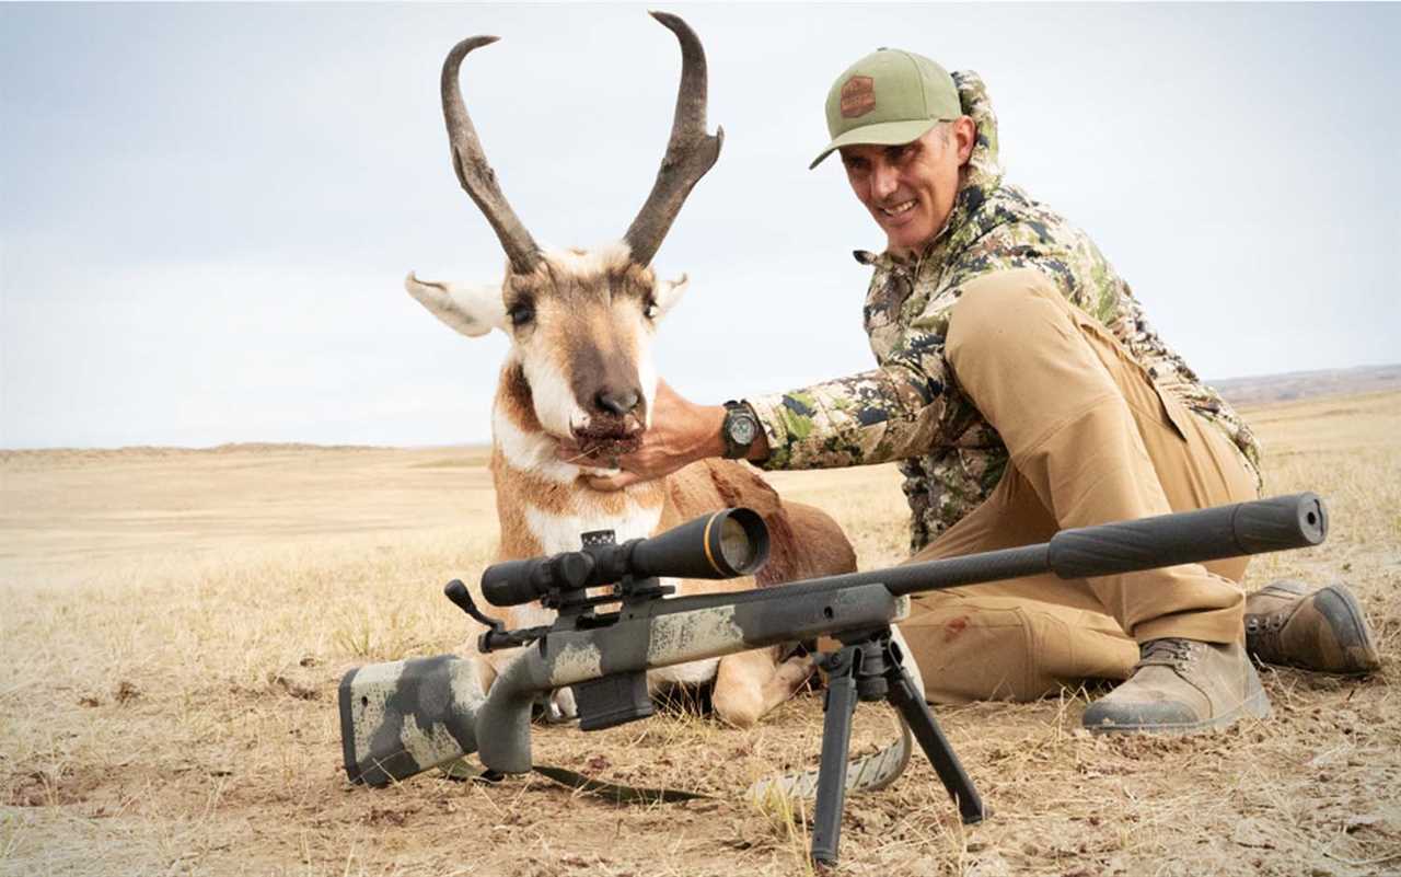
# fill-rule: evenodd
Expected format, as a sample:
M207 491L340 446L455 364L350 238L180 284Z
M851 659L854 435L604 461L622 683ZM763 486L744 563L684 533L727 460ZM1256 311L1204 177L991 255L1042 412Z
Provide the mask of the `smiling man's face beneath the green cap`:
M962 116L904 146L842 147L846 179L885 231L888 249L919 249L943 230L975 136L974 120Z

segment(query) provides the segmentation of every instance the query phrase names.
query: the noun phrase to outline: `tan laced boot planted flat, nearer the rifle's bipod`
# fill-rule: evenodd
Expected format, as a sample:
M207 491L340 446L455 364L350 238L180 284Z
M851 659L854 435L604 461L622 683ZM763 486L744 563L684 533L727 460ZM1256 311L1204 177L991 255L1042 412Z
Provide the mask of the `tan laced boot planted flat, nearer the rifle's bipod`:
M1268 714L1269 698L1240 643L1164 637L1140 643L1133 675L1080 721L1091 731L1194 734Z

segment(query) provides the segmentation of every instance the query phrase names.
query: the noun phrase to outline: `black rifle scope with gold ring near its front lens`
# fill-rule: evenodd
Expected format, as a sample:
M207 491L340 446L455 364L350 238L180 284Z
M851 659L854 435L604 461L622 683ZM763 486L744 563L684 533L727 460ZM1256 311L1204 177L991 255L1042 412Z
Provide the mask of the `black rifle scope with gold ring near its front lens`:
M598 538L604 537L604 538ZM482 597L514 607L555 591L632 579L734 579L758 572L769 558L764 518L750 509L724 509L649 539L612 544L608 531L583 534L580 551L493 563L482 572Z

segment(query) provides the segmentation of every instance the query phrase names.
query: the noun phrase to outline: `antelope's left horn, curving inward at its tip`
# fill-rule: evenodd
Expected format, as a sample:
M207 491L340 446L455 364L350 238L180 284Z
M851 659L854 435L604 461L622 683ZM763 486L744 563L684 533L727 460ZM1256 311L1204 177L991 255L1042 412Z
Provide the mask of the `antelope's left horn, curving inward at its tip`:
M469 36L447 53L447 60L443 62L443 119L447 122L447 139L453 147L453 170L457 171L457 179L492 224L506 256L511 261L511 270L524 275L539 263L539 247L525 226L521 226L496 185L496 171L486 163L486 153L482 151L482 141L476 139L472 118L467 115L467 104L462 102L462 90L457 78L468 52L497 39L500 38Z

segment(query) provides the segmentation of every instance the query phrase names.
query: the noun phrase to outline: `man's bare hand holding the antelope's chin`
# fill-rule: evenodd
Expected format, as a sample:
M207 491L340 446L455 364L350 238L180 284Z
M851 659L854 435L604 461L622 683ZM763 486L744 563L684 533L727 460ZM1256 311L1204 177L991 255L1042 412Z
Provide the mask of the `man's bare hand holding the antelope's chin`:
M682 399L665 381L657 381L657 395L651 402L651 426L642 434L642 444L626 457L619 457L618 475L588 481L595 490L621 490L639 481L671 475L688 462L706 457L723 457L724 406L695 405ZM583 454L569 441L560 441L560 460L598 468L612 468L614 461L600 461Z

